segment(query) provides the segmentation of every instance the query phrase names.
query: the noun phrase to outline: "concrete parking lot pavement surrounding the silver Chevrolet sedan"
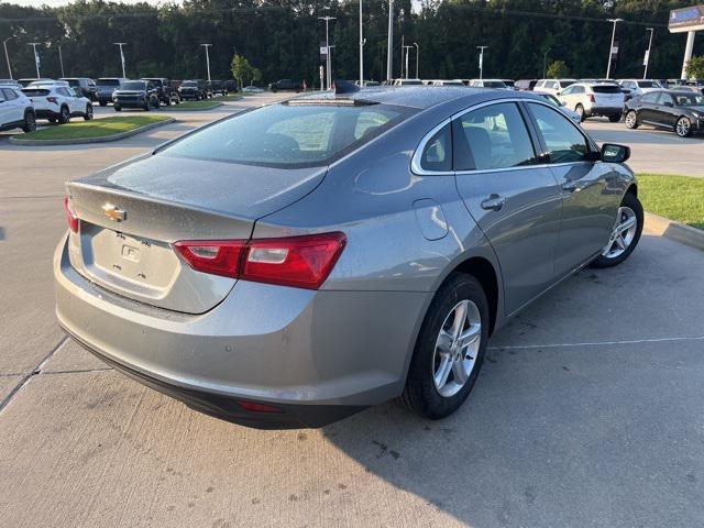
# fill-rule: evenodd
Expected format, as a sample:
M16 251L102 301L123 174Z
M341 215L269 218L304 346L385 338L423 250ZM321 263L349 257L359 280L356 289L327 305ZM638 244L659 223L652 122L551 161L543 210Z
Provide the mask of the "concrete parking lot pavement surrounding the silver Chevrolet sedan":
M438 422L389 403L321 430L246 429L67 340L51 271L63 183L271 97L101 145L0 134L0 526L702 526L704 253L651 233L502 329ZM630 144L637 170L666 172L651 142L704 176L704 140L586 128Z

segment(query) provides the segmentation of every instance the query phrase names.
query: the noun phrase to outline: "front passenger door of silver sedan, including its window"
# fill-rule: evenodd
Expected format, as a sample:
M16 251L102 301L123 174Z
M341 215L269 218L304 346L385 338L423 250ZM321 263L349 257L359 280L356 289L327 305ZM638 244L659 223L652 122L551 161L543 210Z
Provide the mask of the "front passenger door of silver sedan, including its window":
M608 242L620 204L618 175L602 163L596 145L569 118L549 105L527 102L543 160L562 196L556 272L563 276L596 255Z

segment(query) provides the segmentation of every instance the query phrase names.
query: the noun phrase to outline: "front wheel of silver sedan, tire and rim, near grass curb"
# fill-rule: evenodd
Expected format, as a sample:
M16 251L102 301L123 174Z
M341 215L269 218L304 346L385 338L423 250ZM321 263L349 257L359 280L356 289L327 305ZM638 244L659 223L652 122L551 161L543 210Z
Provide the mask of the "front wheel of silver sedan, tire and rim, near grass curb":
M630 256L642 233L642 205L636 195L626 193L618 208L608 242L593 262L593 267L617 266Z

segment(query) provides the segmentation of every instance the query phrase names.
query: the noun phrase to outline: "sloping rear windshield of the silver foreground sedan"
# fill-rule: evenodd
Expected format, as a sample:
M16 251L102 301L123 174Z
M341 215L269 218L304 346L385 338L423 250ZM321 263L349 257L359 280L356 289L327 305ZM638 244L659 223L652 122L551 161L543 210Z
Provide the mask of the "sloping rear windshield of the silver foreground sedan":
M280 168L328 165L400 122L387 105L275 105L207 127L166 147L168 156Z

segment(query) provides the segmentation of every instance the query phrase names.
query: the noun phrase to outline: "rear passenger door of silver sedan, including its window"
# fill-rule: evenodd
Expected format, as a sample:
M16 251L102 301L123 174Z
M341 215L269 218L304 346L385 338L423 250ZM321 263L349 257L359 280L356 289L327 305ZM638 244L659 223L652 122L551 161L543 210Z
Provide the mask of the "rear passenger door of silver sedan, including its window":
M458 190L498 257L510 314L554 280L560 188L538 165L537 140L517 102L477 107L452 128Z

